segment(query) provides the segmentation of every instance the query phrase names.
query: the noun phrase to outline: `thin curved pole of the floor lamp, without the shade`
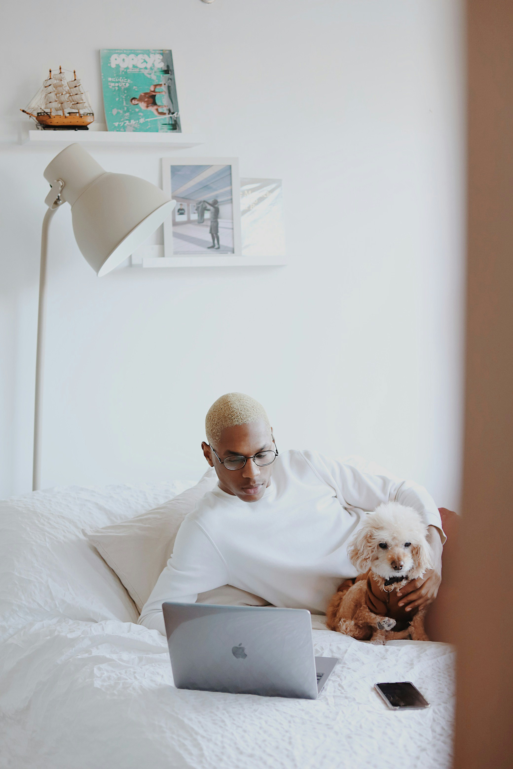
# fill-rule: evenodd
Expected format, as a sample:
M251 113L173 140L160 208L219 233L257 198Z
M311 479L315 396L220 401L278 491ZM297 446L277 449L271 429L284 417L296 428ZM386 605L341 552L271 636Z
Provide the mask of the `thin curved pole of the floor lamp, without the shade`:
M42 432L42 390L43 365L45 356L46 323L46 255L48 253L48 230L58 205L48 208L41 231L41 266L39 268L38 304L38 345L35 354L35 410L34 410L34 461L32 464L32 491L41 486L41 432Z

